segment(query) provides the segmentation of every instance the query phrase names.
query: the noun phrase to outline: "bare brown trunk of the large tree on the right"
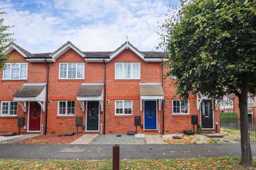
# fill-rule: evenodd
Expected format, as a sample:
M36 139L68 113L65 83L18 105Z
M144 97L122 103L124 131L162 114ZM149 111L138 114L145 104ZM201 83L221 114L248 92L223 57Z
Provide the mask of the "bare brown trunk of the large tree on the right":
M247 114L248 81L244 80L239 98L240 125L241 125L241 165L253 166L252 151L249 136L249 124Z

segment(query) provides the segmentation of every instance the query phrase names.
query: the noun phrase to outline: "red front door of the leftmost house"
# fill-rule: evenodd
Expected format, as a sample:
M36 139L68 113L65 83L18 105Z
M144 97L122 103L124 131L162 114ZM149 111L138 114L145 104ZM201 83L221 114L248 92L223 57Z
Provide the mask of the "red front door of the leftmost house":
M40 131L41 106L37 102L30 102L29 106L29 131Z

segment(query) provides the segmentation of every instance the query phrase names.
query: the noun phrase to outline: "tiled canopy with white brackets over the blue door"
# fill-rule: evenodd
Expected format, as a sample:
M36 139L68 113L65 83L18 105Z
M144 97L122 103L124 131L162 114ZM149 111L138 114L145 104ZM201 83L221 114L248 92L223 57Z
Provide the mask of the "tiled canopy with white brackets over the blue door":
M139 83L140 84L140 110L143 111L143 100L158 100L158 110L161 111L164 89L162 83Z

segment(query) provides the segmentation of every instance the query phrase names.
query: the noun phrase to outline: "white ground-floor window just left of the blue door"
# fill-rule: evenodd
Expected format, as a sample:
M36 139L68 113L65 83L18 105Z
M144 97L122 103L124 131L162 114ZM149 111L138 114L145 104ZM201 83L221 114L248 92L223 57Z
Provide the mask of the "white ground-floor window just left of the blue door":
M116 100L115 115L132 115L132 100Z

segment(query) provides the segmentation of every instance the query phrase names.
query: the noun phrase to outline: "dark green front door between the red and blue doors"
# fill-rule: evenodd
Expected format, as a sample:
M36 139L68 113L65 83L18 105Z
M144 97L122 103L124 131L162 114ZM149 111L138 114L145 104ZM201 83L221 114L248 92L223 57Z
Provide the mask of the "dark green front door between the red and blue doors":
M99 101L87 101L87 131L99 130Z

